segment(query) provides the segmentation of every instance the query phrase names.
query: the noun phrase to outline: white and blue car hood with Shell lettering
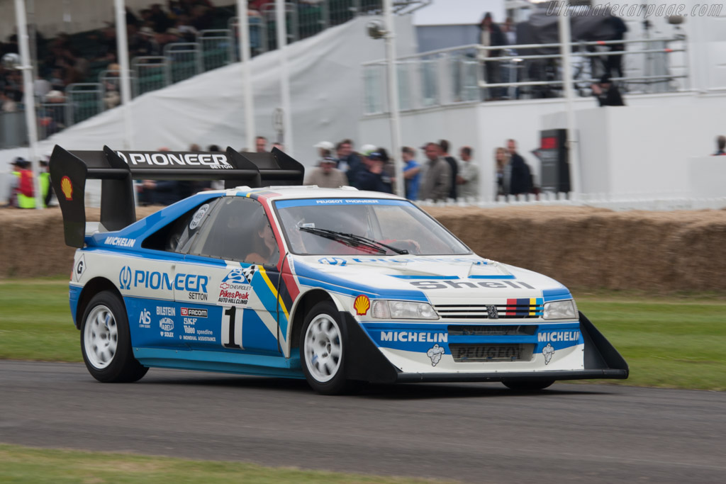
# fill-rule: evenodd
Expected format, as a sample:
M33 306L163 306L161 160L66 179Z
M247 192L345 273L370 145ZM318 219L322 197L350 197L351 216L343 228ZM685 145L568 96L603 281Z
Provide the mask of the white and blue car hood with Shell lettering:
M380 298L569 298L547 276L478 255L293 256L301 282L317 281Z

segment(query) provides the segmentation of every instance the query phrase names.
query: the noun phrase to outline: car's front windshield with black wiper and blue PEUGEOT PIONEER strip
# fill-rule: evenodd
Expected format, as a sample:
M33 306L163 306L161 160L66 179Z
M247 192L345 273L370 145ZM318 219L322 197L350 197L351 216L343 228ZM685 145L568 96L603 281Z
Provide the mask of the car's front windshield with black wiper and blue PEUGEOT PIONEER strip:
M304 199L275 202L287 245L300 255L470 254L411 202Z

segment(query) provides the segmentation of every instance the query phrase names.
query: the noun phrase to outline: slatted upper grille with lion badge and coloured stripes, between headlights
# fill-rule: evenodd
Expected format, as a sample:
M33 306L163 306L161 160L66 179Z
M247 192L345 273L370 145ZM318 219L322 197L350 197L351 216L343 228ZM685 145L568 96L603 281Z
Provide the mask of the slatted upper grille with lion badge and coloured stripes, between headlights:
M499 304L440 304L441 319L533 319L542 317L542 298L507 299Z

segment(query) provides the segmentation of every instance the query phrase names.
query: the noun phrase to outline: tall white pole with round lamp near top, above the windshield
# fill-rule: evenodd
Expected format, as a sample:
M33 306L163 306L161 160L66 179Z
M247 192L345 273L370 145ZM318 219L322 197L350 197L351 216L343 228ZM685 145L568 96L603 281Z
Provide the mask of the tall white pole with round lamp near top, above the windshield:
M386 64L388 67L388 110L391 120L391 156L396 176L396 194L406 196L403 161L401 160L401 118L399 117L399 73L396 70L396 33L393 26L393 1L383 0L386 17Z

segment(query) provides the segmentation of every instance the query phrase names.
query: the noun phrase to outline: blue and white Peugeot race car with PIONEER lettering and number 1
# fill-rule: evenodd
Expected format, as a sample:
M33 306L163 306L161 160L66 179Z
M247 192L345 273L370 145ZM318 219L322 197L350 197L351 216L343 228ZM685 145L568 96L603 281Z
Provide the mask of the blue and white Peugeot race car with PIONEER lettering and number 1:
M542 274L474 254L409 200L301 186L270 153L68 152L50 170L77 247L70 312L102 382L152 367L358 382L624 379L628 366ZM86 179L102 212L86 223ZM224 179L136 221L132 179ZM263 186L282 181L282 186Z

